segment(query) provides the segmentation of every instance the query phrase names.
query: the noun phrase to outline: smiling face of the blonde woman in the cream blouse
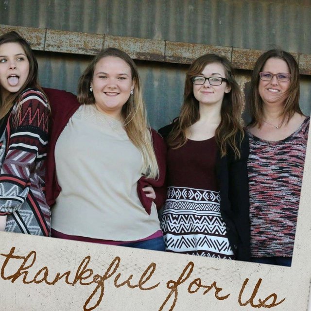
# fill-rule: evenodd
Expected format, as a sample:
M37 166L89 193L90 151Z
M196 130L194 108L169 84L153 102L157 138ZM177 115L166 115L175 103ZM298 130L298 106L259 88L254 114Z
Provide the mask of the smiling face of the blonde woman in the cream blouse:
M134 88L130 66L119 57L103 57L95 66L91 87L97 109L120 119Z

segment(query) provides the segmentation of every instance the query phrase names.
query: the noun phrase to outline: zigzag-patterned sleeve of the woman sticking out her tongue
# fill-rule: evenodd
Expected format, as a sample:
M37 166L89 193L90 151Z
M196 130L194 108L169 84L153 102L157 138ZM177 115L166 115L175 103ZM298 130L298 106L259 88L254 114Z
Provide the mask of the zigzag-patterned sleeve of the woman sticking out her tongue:
M30 174L46 157L49 115L44 95L33 89L24 92L10 114L0 149L0 215L18 210L26 200Z

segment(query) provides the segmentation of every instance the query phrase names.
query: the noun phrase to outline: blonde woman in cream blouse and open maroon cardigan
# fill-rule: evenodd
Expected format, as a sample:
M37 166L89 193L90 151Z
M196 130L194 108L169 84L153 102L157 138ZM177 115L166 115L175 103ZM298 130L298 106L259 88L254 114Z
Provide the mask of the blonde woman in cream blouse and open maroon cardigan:
M133 60L106 49L82 74L78 101L62 91L47 95L55 120L47 165L52 236L164 250L156 189L165 145L147 126Z

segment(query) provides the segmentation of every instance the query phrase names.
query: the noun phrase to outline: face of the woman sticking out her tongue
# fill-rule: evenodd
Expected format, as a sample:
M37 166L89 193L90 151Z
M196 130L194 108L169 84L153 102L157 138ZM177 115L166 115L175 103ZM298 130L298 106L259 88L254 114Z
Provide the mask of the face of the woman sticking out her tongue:
M3 100L24 85L29 74L29 61L19 43L0 45L0 90Z

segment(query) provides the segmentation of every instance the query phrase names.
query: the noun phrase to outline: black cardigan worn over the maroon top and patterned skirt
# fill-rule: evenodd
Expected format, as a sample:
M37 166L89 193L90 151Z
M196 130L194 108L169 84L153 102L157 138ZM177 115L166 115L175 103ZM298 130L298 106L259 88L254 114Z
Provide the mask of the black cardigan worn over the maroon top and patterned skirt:
M163 138L167 138L173 124L159 129ZM239 141L239 136L237 137ZM226 225L227 237L235 259L250 259L250 222L247 158L249 142L244 135L241 144L241 158L235 159L234 151L228 147L227 155L221 157L218 152L216 176L220 191L220 212Z

